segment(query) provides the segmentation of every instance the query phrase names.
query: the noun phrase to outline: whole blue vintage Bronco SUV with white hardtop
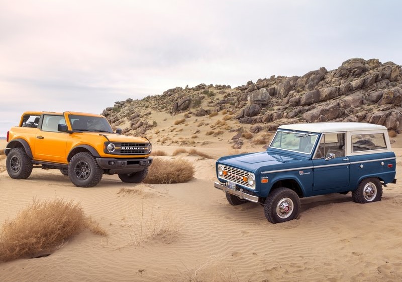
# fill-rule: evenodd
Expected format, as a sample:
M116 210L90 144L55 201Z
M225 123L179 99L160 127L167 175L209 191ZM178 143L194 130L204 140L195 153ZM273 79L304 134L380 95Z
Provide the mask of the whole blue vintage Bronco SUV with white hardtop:
M272 223L297 218L300 198L347 194L357 203L380 201L382 185L396 183L396 158L387 129L358 122L278 127L264 152L225 156L216 162L231 205L264 206Z

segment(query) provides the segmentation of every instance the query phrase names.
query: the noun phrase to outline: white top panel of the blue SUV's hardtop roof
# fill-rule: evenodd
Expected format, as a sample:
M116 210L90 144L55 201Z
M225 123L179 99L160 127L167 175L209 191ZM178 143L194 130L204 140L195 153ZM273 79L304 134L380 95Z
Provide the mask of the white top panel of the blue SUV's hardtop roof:
M357 130L386 130L386 127L378 124L361 122L317 122L286 124L279 126L278 129L326 133Z

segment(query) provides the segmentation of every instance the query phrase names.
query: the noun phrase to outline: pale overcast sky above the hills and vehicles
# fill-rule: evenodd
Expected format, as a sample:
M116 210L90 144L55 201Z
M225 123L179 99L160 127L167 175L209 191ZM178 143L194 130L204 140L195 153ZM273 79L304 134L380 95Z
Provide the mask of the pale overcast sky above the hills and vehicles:
M402 65L398 0L0 0L0 137L24 111L101 113L350 58Z

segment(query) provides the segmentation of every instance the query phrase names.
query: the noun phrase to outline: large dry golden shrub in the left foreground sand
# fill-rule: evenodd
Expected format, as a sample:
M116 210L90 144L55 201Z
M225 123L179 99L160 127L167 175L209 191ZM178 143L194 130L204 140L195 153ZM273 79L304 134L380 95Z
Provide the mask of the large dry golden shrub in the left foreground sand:
M7 220L0 233L0 261L48 255L83 229L106 232L85 216L82 207L61 199L39 201Z

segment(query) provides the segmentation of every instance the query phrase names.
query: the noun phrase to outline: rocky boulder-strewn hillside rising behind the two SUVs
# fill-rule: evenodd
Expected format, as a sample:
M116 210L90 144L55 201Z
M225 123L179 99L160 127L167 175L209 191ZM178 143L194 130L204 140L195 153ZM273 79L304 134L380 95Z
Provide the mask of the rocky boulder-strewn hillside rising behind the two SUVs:
M157 126L152 113L183 114L184 118L219 113L251 133L274 131L285 123L355 121L402 129L402 70L377 59L347 60L332 71L311 71L302 77L272 76L231 88L205 85L176 87L162 95L127 99L103 115L128 135L144 135ZM241 128L241 125L239 125ZM236 141L236 140L235 140Z

